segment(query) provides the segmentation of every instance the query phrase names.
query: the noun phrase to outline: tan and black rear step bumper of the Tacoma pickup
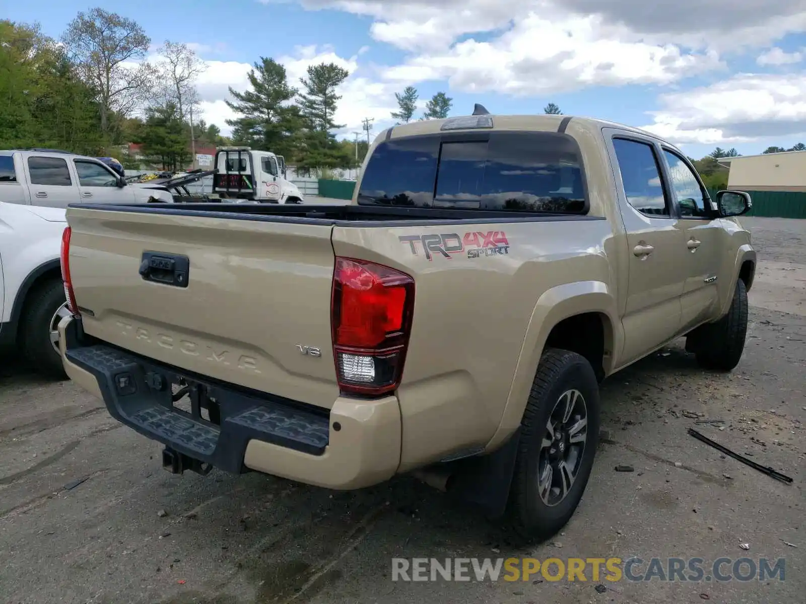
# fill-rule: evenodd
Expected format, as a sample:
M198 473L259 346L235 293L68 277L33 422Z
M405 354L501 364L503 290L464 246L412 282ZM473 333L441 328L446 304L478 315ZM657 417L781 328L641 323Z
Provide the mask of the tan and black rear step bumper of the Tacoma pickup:
M64 370L106 403L110 414L185 456L229 472L256 470L347 490L384 482L401 455L397 398L336 399L328 411L251 391L85 340L81 321L60 326ZM220 422L173 406L171 384L185 379L196 400L218 402ZM191 396L191 400L193 400Z

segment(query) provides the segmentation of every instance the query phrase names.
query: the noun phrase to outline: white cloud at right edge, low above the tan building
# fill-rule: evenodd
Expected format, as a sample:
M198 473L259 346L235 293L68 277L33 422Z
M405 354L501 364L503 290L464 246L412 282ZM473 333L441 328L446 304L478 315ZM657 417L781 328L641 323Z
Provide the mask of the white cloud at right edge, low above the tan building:
M663 94L642 126L673 143L744 143L806 134L806 73L739 73L717 84Z

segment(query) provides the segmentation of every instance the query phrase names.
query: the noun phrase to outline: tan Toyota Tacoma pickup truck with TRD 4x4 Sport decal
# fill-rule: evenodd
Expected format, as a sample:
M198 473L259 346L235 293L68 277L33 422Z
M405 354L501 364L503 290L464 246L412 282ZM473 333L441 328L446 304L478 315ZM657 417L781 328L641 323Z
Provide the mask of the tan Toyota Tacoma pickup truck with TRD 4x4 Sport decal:
M598 381L682 336L742 356L750 197L652 134L477 107L385 130L362 173L343 206L70 206L67 373L172 472L413 472L542 539Z

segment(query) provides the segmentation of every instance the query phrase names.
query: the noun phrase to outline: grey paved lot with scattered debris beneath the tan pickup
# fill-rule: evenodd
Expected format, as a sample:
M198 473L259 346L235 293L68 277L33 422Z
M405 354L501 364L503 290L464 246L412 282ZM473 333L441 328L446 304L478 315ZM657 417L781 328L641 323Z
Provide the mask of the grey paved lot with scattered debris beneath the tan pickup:
M2 602L803 602L806 221L748 218L761 264L732 374L682 341L603 385L605 441L563 535L509 544L400 478L330 494L259 474L172 476L159 448L71 383L0 363ZM685 413L684 413L685 412ZM700 432L794 478L778 482ZM691 417L689 417L691 416ZM633 465L617 473L615 465ZM791 547L785 542L797 545ZM745 551L740 544L749 544ZM399 557L786 558L784 581L393 582ZM729 568L729 567L726 567Z

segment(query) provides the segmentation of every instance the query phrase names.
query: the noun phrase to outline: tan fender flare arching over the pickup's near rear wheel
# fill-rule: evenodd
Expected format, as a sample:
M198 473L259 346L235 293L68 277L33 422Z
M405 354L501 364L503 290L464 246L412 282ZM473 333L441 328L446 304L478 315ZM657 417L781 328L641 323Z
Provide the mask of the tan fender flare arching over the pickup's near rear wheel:
M605 374L609 374L624 345L624 330L617 308L616 297L607 283L602 281L564 283L543 292L534 304L501 422L485 450L492 451L501 446L520 427L546 340L560 321L586 312L598 312L608 318L609 325L605 325L605 349L610 354L609 358L605 357L604 369Z

